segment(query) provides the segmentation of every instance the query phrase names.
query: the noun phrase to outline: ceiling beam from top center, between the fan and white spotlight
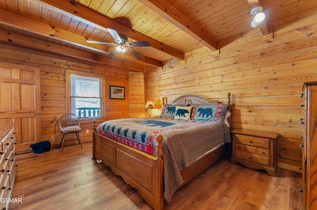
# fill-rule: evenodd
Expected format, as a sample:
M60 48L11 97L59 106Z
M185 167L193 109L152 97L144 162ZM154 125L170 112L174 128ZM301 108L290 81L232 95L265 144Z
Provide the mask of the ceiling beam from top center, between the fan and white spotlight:
M168 0L139 0L141 3L160 14L169 22L201 42L212 51L217 50L217 42L207 35L203 29L175 8Z

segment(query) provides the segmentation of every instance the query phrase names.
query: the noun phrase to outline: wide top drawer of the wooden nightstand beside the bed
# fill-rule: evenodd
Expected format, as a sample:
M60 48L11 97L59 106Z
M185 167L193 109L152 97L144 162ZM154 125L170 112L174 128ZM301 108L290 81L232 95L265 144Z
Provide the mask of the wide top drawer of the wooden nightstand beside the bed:
M269 139L267 138L248 136L237 133L234 133L233 138L236 143L269 149Z

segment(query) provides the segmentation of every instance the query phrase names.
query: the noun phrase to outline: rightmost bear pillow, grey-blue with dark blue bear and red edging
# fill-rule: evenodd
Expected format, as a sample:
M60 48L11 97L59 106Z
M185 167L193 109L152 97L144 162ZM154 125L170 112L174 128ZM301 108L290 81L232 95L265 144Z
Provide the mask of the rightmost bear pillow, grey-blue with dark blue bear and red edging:
M196 104L193 107L191 119L205 121L222 121L224 122L229 104Z

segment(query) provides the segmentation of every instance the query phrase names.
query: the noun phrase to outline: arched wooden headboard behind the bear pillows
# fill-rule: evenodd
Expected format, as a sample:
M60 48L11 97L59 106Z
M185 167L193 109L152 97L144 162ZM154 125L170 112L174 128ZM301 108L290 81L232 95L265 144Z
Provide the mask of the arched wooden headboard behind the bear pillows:
M230 92L227 93L227 103L230 104ZM218 100L208 100L207 98L196 95L196 94L186 94L179 96L172 102L167 102L166 98L162 98L162 103L164 104L174 104L174 105L184 105L184 104L211 104L211 103L218 103Z

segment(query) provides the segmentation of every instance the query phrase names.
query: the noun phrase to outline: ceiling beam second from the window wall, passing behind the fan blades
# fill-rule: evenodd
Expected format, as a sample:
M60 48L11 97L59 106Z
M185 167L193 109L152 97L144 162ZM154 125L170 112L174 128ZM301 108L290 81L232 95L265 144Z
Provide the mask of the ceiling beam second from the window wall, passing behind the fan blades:
M91 50L95 50L98 52L108 54L108 48L104 44L96 44L96 43L88 43L86 42L86 38L77 34L73 34L71 32L65 31L63 29L57 27L51 27L45 23L41 23L35 21L30 18L23 17L21 15L0 9L0 23L12 26L21 30L25 30L28 32L40 34L45 37L50 37L62 42L71 43L77 46L85 47ZM34 42L34 40L33 40ZM71 55L69 55L71 56ZM113 56L111 58L115 58L117 56ZM125 56L127 60L140 62L143 64L147 64L150 66L161 67L162 62L150 57L142 56L141 58L136 58L134 56Z

